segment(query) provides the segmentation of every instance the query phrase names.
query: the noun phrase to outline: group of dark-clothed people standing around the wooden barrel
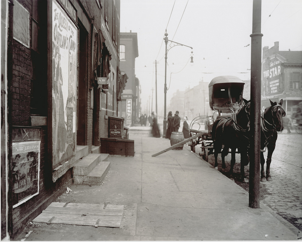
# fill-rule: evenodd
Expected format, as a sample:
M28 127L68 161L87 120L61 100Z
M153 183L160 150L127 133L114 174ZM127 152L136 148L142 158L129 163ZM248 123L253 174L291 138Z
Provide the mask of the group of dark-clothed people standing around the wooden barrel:
M178 132L180 127L180 117L178 116L179 112L176 111L174 116L172 116L172 111L168 113L168 120L167 120L167 131L165 138L170 139L172 132ZM184 117L184 123L182 127L182 132L184 134L185 139L189 138L189 125L188 125L188 117Z

